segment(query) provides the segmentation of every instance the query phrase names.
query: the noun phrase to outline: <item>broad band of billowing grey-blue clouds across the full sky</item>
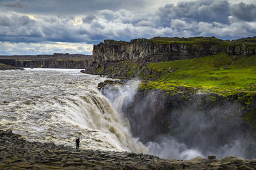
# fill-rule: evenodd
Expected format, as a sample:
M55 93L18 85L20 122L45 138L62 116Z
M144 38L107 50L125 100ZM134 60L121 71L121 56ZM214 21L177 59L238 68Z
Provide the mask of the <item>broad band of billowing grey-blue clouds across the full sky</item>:
M111 0L113 1L113 0ZM6 1L3 1L6 3ZM38 1L37 1L38 2ZM241 38L255 35L255 5L230 4L226 0L200 0L177 4L166 4L154 12L134 12L131 10L110 10L120 6L113 4L108 10L82 13L79 17L68 15L77 6L95 9L88 1L43 0L42 6L31 3L35 9L45 12L49 8L66 8L65 15L21 15L10 12L0 14L0 41L6 42L86 42L99 43L104 39L131 40L132 38L152 38L153 36L216 36L218 38ZM93 1L94 2L94 1ZM109 4L103 1L102 6ZM135 1L129 3L132 6ZM145 1L141 0L139 3ZM48 4L44 4L48 3ZM119 3L119 4L118 4ZM82 5L83 4L83 5ZM128 3L127 3L128 4ZM81 6L82 7L81 7ZM93 7L94 5L94 7ZM31 8L31 6L29 8ZM103 7L99 8L103 8ZM51 9L47 9L50 10ZM246 12L243 13L243 11ZM31 11L30 11L31 12Z

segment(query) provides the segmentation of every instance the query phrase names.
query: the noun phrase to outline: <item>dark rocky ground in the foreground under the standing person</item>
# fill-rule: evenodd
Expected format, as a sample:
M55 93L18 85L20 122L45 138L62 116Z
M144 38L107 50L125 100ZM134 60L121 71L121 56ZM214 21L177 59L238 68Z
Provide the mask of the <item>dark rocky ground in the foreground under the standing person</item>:
M12 130L0 130L0 169L256 169L256 159L196 157L162 159L115 151L76 151L54 143L29 142Z

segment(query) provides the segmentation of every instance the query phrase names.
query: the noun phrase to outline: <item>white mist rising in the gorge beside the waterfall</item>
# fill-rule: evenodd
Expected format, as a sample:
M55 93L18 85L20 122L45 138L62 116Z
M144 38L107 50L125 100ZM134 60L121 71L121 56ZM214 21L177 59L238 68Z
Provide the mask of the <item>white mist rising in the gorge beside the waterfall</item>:
M102 94L129 122L131 133L161 158L188 160L216 155L255 158L255 135L241 104L213 94L188 99L164 91L137 91L139 81L107 86Z

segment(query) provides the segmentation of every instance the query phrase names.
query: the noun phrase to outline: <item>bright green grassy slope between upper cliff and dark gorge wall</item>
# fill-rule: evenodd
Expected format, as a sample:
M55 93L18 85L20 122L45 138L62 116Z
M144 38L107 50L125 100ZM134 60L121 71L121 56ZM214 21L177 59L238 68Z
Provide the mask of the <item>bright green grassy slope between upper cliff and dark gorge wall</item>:
M168 89L188 86L208 91L256 91L256 56L232 58L227 54L202 58L150 63L147 69L154 74L141 74L143 79L160 75L156 81L144 84L145 88Z

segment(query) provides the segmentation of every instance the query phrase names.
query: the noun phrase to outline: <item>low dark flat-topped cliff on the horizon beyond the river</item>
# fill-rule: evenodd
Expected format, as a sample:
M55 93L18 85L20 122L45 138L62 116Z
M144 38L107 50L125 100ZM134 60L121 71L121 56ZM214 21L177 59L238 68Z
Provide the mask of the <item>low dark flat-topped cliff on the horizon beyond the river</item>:
M88 68L92 65L92 56L68 53L36 56L0 56L0 63L32 68Z

